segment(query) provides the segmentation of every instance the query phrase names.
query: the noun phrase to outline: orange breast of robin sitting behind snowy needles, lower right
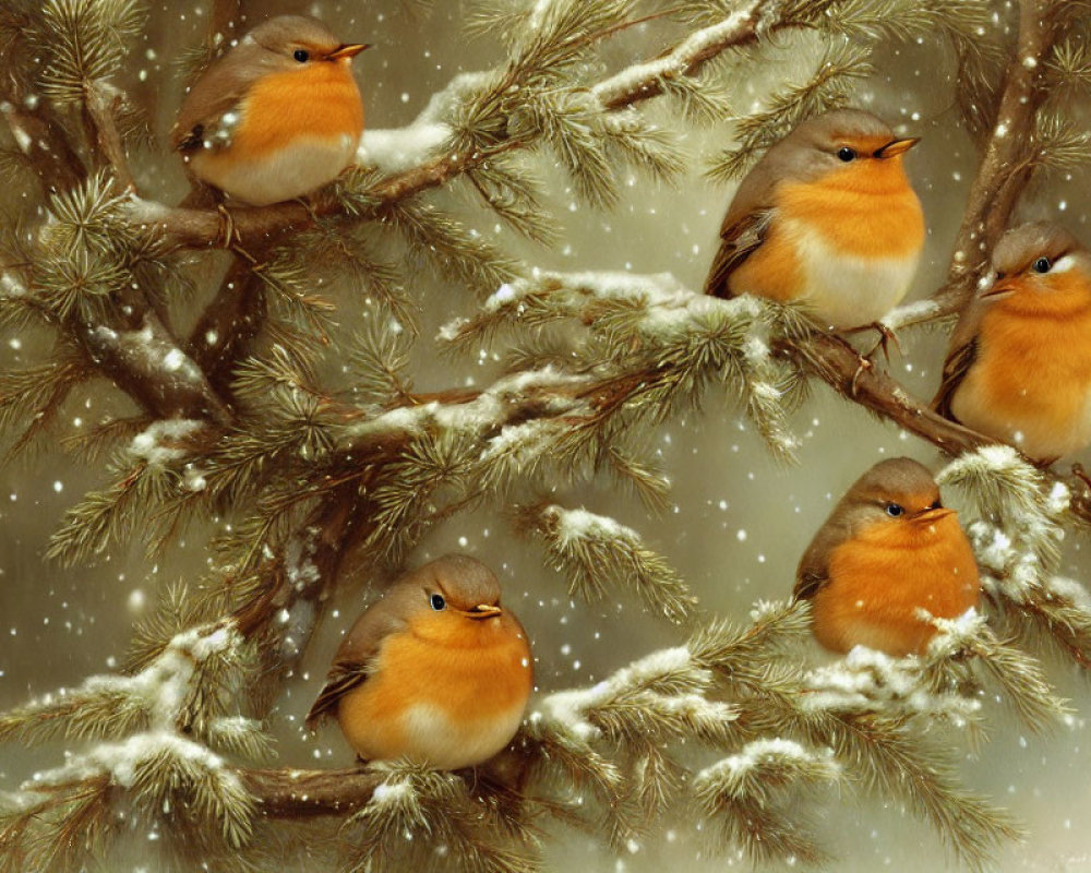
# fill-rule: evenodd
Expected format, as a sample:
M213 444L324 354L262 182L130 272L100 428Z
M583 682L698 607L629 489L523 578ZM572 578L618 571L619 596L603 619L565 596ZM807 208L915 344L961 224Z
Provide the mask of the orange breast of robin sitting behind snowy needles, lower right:
M814 598L814 633L835 651L856 645L896 656L923 651L935 629L918 609L956 618L978 605L980 590L954 513L928 525L872 525L834 549L829 575Z

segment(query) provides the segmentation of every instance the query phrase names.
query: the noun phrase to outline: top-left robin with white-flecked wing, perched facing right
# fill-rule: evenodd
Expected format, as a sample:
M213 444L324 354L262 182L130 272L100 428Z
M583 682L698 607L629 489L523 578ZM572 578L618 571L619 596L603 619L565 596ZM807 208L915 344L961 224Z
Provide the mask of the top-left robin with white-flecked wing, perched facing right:
M351 63L365 48L302 15L260 24L194 83L173 147L199 179L254 206L321 188L363 132Z

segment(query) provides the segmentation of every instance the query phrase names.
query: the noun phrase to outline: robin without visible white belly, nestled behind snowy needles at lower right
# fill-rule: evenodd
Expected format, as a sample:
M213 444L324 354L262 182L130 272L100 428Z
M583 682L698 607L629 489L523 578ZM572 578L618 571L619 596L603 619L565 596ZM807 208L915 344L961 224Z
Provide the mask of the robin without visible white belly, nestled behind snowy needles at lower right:
M795 572L795 598L813 602L826 648L923 651L935 627L919 610L952 619L978 605L970 542L932 474L908 457L883 461L834 507Z

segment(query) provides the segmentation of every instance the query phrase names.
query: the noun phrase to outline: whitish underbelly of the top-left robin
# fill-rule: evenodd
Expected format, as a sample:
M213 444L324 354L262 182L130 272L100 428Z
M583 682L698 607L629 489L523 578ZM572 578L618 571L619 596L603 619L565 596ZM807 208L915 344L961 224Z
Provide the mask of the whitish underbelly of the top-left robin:
M199 179L236 200L267 206L332 182L352 163L357 145L348 134L337 140L299 140L276 155L252 160L227 160L229 152L199 151L190 158L190 167Z

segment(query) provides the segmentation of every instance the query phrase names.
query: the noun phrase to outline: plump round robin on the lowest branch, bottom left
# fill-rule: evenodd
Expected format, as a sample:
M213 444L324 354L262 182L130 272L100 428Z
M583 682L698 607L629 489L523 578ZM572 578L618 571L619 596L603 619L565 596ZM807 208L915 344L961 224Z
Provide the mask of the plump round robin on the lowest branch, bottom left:
M452 554L404 576L337 650L307 726L336 714L361 758L480 764L515 736L533 686L519 620L484 564Z

